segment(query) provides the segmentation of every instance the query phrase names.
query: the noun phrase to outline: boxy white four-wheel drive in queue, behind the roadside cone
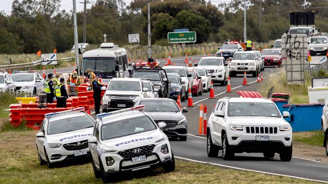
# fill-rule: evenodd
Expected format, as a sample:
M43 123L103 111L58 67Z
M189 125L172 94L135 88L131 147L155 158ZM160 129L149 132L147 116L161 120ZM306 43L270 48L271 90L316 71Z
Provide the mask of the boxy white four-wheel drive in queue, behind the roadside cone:
M230 62L230 76L234 77L237 73L251 73L257 77L259 73L258 57L254 51L236 52Z

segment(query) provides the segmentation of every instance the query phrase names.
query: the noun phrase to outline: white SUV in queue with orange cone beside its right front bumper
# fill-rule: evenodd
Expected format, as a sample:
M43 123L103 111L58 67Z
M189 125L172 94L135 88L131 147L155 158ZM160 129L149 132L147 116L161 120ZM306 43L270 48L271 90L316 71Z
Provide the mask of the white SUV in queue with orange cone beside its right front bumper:
M195 66L206 68L211 74L213 82L220 82L221 85L228 83L230 69L224 57L202 57L199 60L199 64L195 64Z

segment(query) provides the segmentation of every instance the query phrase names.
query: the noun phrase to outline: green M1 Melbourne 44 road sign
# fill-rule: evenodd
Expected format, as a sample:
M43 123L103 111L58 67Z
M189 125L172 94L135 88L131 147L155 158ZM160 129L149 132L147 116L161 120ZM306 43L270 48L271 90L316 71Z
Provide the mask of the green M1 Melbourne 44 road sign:
M170 32L168 33L169 43L195 43L196 32Z

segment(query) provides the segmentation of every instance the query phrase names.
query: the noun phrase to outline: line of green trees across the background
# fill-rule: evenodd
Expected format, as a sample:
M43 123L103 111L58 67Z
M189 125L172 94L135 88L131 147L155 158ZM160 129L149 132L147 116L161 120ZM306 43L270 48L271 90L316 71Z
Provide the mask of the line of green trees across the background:
M243 0L214 6L205 0L150 0L152 44L168 45L167 33L188 28L197 43L243 40ZM79 3L79 2L78 2ZM315 12L315 26L328 30L328 1L248 0L247 37L267 42L289 28L289 13ZM259 19L260 17L260 19ZM147 1L97 0L86 12L86 42L128 44L128 34L139 33L147 44ZM83 40L83 12L77 13L79 42ZM64 52L74 43L72 11L61 10L61 0L15 0L9 15L0 13L0 53Z

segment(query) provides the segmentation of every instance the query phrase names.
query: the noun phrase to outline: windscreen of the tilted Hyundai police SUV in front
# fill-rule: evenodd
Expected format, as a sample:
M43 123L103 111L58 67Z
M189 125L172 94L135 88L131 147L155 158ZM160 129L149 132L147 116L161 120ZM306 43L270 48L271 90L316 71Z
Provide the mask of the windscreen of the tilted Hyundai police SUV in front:
M133 117L101 125L101 140L115 139L155 129L155 124L148 116Z

